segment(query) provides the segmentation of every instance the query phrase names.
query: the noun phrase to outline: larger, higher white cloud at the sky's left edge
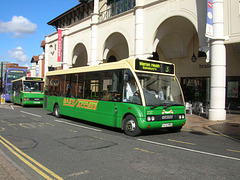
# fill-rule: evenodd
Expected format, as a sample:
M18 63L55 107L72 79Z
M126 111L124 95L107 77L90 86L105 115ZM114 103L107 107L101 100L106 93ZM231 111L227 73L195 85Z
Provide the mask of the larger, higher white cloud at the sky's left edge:
M22 34L33 34L37 25L22 16L13 16L11 21L0 21L0 32L13 33L15 37L22 37Z

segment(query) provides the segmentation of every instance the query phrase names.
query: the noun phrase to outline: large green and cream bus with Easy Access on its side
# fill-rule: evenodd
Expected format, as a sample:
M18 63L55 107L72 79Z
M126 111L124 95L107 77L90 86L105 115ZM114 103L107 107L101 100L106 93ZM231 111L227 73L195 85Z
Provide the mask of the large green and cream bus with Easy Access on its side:
M166 62L125 59L51 71L45 80L45 110L121 128L129 136L156 128L180 131L184 105L174 64Z

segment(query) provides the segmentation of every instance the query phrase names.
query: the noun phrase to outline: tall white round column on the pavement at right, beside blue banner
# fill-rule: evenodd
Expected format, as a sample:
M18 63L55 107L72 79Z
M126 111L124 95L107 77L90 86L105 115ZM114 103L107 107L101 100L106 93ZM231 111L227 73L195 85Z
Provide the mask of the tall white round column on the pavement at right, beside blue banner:
M209 120L226 120L226 49L224 46L223 0L213 0L213 39Z

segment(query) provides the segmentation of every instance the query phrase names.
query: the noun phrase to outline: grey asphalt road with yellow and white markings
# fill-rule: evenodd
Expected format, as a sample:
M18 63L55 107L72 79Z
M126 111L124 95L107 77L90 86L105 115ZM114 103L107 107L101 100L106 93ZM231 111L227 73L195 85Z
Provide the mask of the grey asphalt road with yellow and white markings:
M41 107L0 106L0 149L30 179L240 179L240 144L223 136L121 130Z

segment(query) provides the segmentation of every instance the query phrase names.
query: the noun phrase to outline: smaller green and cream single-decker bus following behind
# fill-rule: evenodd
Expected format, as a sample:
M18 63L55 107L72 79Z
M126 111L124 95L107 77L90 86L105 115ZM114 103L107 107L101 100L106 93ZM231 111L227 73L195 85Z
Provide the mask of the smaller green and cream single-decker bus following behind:
M41 77L22 77L12 81L11 102L14 104L43 105L44 80Z

